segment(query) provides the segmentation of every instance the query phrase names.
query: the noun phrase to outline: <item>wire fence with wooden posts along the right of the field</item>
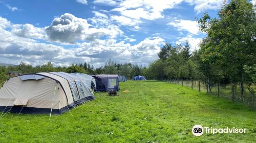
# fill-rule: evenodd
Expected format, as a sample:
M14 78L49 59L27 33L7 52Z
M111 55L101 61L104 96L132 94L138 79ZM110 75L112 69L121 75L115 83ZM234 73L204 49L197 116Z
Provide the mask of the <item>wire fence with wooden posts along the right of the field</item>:
M254 101L255 85L250 86L250 90L246 84L243 85L243 92L241 92L240 86L236 83L233 84L220 84L211 83L208 85L202 81L190 81L190 80L164 80L165 82L192 88L199 92L206 92L220 98L231 100L232 102L242 102L248 106L251 106L252 110L256 107Z

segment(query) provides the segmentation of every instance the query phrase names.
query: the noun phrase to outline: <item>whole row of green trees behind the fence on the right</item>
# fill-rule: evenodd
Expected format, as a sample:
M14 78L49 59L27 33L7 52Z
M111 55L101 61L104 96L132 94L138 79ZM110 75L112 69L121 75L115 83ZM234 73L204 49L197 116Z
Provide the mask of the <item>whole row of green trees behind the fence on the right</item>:
M153 79L201 80L211 90L212 83L238 83L241 96L244 84L251 90L256 83L256 18L255 5L246 0L225 3L218 17L208 13L197 19L207 36L199 50L189 53L185 45L166 43L159 59L148 67L147 77Z

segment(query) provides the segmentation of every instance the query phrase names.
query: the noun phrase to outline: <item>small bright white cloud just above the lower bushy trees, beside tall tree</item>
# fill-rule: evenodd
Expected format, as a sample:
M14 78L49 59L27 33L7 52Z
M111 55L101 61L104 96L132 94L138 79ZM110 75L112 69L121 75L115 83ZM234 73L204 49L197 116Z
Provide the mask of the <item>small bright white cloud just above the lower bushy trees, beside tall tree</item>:
M195 38L192 35L187 35L186 37L180 38L177 43L184 43L186 41L189 42L191 51L199 50L199 43L202 38Z

